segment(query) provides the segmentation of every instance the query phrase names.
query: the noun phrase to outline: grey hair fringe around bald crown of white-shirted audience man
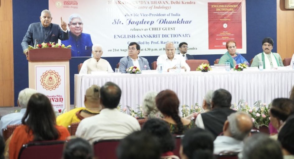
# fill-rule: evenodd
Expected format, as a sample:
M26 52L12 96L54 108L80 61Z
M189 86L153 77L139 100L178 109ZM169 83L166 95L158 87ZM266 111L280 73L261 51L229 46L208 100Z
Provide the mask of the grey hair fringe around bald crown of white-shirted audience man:
M249 136L251 129L249 129L248 131L244 131L244 132L240 130L240 124L238 121L238 116L240 116L240 115L248 116L251 119L251 115L249 115L248 113L246 113L244 111L238 111L238 112L230 114L228 116L228 121L229 121L229 130L230 130L232 137L234 139L242 141L247 136Z

